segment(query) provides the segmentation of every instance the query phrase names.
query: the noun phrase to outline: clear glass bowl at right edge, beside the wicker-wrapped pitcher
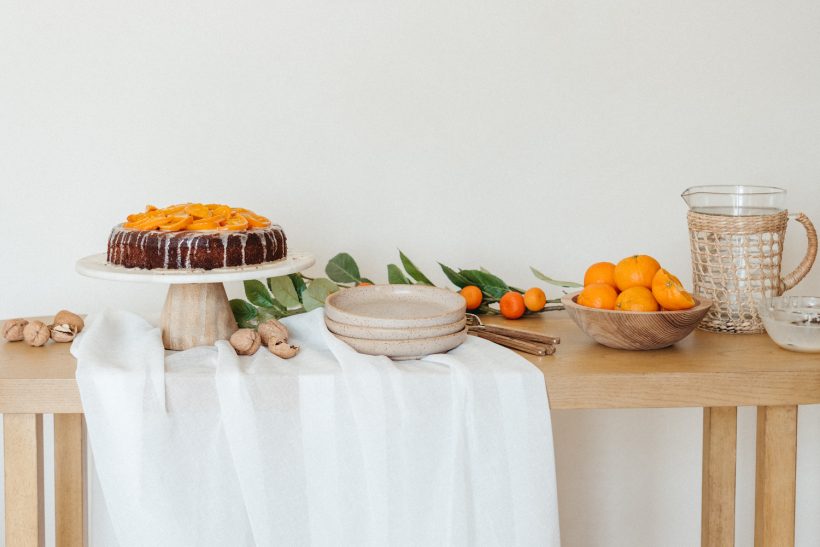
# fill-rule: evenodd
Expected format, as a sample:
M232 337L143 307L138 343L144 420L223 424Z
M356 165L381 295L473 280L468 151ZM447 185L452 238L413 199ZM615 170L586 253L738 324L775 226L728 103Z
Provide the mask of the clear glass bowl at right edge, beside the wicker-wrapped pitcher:
M757 307L775 343L791 351L820 352L820 297L775 296Z

